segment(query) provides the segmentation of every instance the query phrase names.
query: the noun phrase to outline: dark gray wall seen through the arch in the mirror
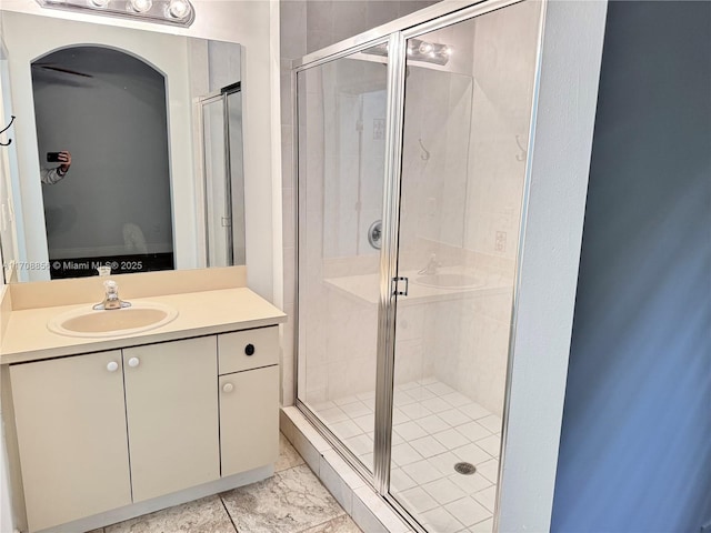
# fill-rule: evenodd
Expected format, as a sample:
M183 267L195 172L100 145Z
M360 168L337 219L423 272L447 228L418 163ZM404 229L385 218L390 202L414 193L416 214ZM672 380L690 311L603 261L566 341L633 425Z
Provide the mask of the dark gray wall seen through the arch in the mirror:
M98 47L37 63L91 76L32 68L40 165L56 167L47 151L72 154L67 178L42 185L50 259L122 253L127 223L141 229L149 252L172 251L163 76Z

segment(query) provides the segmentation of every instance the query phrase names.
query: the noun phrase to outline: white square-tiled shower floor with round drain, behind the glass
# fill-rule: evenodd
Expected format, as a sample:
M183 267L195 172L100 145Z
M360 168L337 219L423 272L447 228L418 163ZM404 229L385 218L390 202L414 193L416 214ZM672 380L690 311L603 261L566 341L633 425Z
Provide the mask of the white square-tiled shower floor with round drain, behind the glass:
M391 494L430 533L490 533L501 419L435 378L397 385L393 394ZM374 392L313 409L372 471ZM457 473L461 461L475 473Z

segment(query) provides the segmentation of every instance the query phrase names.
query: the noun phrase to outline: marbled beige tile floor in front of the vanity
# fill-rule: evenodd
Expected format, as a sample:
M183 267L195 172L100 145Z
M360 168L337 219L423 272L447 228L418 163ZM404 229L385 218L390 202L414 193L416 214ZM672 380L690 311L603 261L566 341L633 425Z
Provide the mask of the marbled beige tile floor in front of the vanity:
M280 434L274 476L91 533L362 533Z

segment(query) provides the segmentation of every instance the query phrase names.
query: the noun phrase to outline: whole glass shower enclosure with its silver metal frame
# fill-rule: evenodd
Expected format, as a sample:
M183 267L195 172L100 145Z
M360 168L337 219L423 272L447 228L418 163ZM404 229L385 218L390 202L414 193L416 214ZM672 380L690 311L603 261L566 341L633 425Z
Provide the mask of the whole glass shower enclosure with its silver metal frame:
M543 11L294 69L297 403L418 531L495 529Z

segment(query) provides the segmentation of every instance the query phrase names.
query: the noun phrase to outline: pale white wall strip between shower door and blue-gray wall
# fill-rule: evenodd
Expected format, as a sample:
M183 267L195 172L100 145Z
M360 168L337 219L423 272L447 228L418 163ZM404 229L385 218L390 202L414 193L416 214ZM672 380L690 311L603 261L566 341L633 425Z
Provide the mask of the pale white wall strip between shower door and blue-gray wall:
M502 532L550 530L607 2L551 1L500 480Z

